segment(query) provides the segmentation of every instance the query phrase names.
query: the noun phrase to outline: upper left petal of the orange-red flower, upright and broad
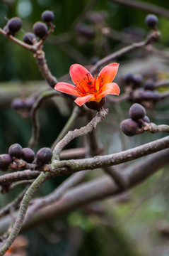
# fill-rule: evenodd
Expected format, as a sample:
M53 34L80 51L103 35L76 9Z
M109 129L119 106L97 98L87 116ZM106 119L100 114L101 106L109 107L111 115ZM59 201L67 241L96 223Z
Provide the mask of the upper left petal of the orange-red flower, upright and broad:
M85 90L86 90L86 85L88 85L88 82L92 82L92 83L94 82L93 75L91 75L91 73L86 68L84 68L82 65L79 65L79 64L71 65L70 75L71 75L71 80L74 82L74 84L77 86L78 85L84 86Z

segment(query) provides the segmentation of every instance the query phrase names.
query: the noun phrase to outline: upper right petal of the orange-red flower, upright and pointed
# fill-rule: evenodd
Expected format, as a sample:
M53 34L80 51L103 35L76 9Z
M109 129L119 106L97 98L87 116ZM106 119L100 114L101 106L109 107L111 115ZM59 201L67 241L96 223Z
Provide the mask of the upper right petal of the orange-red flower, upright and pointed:
M98 74L96 85L98 85L98 80L100 81L100 86L112 82L112 80L115 78L115 75L117 74L118 68L118 63L111 63L109 65L106 65L105 68L103 68ZM96 89L99 90L99 88Z

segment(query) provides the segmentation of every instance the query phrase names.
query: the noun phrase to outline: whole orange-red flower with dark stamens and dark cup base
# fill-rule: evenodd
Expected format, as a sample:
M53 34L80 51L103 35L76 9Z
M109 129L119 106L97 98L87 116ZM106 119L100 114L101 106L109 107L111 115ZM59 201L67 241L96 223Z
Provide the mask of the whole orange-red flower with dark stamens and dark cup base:
M98 103L96 108L89 107L97 110L104 105L105 95L120 94L120 87L115 82L112 82L117 74L118 67L119 64L117 63L106 65L98 74L98 78L96 78L96 75L93 77L82 65L71 65L70 75L75 86L67 82L58 82L54 89L78 96L74 102L80 107L85 103L88 106L89 102L91 105L92 103L94 105Z

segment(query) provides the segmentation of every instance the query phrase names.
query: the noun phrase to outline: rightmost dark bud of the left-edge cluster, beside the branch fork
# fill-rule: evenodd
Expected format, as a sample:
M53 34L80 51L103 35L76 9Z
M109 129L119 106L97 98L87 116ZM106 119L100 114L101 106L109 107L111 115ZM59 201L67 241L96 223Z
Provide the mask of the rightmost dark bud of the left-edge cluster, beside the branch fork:
M44 147L37 151L36 154L37 164L44 165L49 164L52 159L52 150L48 147Z

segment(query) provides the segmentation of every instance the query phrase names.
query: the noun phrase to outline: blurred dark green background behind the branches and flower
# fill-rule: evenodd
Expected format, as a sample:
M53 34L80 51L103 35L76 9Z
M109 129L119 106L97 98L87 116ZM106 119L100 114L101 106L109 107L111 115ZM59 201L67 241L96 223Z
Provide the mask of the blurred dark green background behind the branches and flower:
M133 0L136 1L136 0ZM168 9L165 0L141 1ZM133 42L146 38L151 31L145 25L148 11L133 9L131 6L115 4L105 0L1 0L0 27L4 28L9 18L19 16L23 21L21 31L16 35L23 40L25 32L32 32L33 24L41 20L45 10L54 12L54 33L44 45L47 63L52 74L59 80L69 79L71 64L80 63L89 68L100 58L119 50ZM168 79L169 20L158 16L158 29L161 38L155 44L158 52L136 50L115 61L120 63L118 81L124 92L123 77L127 73L154 76L156 80ZM161 54L159 53L161 51ZM11 108L15 97L28 97L47 88L38 70L35 58L28 52L0 36L0 154L6 154L8 147L19 143L28 146L31 135L29 118ZM65 78L66 75L66 78ZM168 90L165 87L163 91ZM131 102L111 105L105 122L97 127L98 136L105 146L105 154L128 149L164 134L142 134L126 137L120 133L120 122L128 118ZM58 97L47 101L40 108L40 140L36 151L42 146L51 146L71 114L73 105ZM151 122L168 124L168 101L159 103L147 110ZM85 124L82 119L76 124ZM104 139L103 135L104 134ZM81 146L82 140L75 140L70 147ZM89 178L103 175L93 171ZM25 230L28 239L25 252L28 255L45 256L167 256L169 255L168 218L168 168L117 198L95 202L81 210L75 210L49 223ZM58 186L65 177L47 181L39 189L37 196L44 196ZM6 205L20 188L0 195L0 206Z

